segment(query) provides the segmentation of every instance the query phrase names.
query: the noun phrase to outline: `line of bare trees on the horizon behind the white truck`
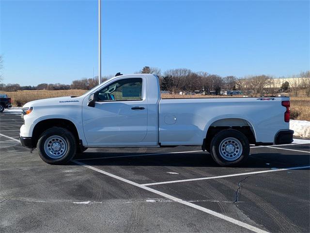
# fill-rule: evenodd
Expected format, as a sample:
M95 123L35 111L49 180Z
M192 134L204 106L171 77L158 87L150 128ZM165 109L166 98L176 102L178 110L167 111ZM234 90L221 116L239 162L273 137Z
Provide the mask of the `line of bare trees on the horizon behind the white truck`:
M194 72L186 68L169 69L163 73L157 67L143 67L136 73L150 73L159 77L160 87L163 91L172 93L194 92L196 90L206 94L213 93L219 95L221 90L240 90L244 93L251 91L251 93L263 95L268 93L271 95L279 91L279 86L284 91L291 90L295 96L298 95L298 90L303 89L306 95L310 97L310 70L301 72L286 78L301 78L289 82L276 83L275 78L268 75L255 75L237 78L235 76L221 77L217 74L210 74L205 71ZM113 76L102 77L102 82ZM280 77L285 79L284 77ZM89 90L98 84L98 76L94 78L83 78L74 80L69 84L62 83L40 83L37 86L20 86L15 83L0 83L0 90L2 91L17 91L17 90L69 90L82 89Z

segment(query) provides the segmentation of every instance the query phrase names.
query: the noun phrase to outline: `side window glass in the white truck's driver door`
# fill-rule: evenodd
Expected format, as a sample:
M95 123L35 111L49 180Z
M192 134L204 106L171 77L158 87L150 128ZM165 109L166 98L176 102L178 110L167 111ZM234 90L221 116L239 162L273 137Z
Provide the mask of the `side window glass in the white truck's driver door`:
M142 100L142 79L120 79L98 92L99 101Z

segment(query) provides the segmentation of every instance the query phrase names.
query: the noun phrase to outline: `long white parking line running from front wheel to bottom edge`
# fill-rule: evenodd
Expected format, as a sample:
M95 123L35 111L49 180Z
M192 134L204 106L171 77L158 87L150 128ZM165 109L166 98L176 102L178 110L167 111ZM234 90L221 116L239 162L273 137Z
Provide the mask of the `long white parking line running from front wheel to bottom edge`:
M109 173L109 172L103 171L103 170L98 169L98 168L96 168L96 167L89 166L89 165L80 163L80 162L78 162L78 161L73 161L73 162L76 163L76 164L78 164L78 165L80 165L80 166L84 166L84 167L87 167L87 168L92 169L92 170L94 170L94 171L97 171L97 172L99 172L99 173L101 173L101 174L107 175L107 176L109 176L109 177L115 178L115 179L117 179L117 180L123 181L123 182L125 182L125 183L129 183L129 184L134 185L134 186L136 186L136 187L139 187L139 188L142 188L142 189L147 190L147 191L149 191L149 192L155 193L155 194L157 194L157 195L159 195L159 196L162 196L162 197L164 197L164 198L167 198L167 199L173 200L173 201L175 201L175 202L181 203L181 204L183 204L183 205L192 207L192 208L194 208L194 209L196 209L196 210L200 210L200 211L202 211L202 212L204 212L204 213L207 213L207 214L210 214L210 215L212 215L212 216L219 217L219 218L221 218L221 219L223 219L223 220L229 221L229 222L231 222L231 223L233 223L233 224L235 224L235 225L238 225L238 226L240 226L240 227L246 228L246 229L248 229L248 230L250 230L250 231L253 231L253 232L256 232L256 233L267 233L266 231L263 231L262 229L259 229L259 228L257 228L257 227L251 226L251 225L249 225L249 224L247 224L247 223L245 223L245 222L241 222L241 221L239 221L239 220L237 220L237 219L234 219L234 218L232 218L232 217L222 215L222 214L217 213L217 212L215 212L215 211L213 211L213 210L209 210L209 209L207 209L207 208L204 208L204 207L202 207L202 206L193 204L193 203L188 202L188 201L186 201L186 200L182 200L182 199L173 197L173 196L171 196L171 195L169 195L169 194L166 194L166 193L157 191L157 190L155 190L155 189L153 189L153 188L150 188L150 187L146 187L146 186L141 185L141 184L139 184L139 183L135 183L135 182L126 180L126 179L124 179L124 178L122 178L122 177L113 175L113 174L111 174L111 173Z

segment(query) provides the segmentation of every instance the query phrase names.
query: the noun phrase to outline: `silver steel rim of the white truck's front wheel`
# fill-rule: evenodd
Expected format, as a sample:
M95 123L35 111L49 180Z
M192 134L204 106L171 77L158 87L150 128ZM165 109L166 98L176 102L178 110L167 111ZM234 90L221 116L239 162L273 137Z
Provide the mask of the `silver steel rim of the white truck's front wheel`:
M45 140L44 151L52 159L60 159L68 150L67 142L61 136L50 136Z

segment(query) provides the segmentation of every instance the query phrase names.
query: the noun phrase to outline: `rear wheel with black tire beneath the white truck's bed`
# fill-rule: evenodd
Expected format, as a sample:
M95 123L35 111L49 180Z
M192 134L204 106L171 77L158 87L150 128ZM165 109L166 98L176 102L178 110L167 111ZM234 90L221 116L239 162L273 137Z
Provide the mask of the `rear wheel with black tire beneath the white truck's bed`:
M227 147L233 148L233 152ZM243 133L237 130L222 130L213 137L210 152L219 166L240 166L248 159L250 145Z

